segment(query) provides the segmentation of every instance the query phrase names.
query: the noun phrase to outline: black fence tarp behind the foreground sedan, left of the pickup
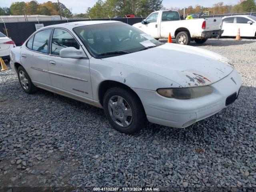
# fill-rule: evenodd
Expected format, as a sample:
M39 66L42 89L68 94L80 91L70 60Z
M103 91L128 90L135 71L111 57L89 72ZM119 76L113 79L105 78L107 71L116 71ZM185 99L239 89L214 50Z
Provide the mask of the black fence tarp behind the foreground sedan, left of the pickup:
M109 19L93 19L95 20L109 20ZM139 22L142 22L142 18L118 18L111 19L115 21L121 21L124 23L128 23L129 25L133 25ZM90 21L90 20L68 20L68 22L77 22L77 21ZM44 26L66 23L67 20L55 20L55 21L40 21L40 24L44 24ZM13 22L13 23L5 23L6 29L8 31L8 36L15 42L17 46L21 45L33 32L36 31L35 24L38 22ZM5 33L4 23L0 23L0 32Z

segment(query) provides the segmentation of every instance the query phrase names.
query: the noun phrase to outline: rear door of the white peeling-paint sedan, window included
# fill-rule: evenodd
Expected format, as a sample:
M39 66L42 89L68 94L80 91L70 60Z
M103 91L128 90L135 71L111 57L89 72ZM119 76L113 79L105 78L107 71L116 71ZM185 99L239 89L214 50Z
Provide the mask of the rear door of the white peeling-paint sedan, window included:
M51 86L47 58L52 28L34 34L21 50L20 60L32 82L38 86Z

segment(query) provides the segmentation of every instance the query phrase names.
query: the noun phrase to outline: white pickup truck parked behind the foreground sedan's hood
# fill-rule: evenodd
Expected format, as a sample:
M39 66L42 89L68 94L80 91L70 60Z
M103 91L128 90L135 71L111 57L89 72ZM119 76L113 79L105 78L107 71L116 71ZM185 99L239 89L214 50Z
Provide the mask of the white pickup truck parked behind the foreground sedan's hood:
M186 45L191 40L204 43L208 38L220 37L223 33L222 18L180 20L179 12L173 10L152 12L141 23L133 26L156 39L168 38L171 33L178 44Z

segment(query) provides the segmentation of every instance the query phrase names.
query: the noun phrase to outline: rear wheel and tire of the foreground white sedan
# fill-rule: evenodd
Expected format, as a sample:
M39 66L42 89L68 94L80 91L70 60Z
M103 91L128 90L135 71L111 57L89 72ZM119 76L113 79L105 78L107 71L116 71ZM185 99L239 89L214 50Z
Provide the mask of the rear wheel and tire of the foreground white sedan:
M24 67L19 66L17 72L18 72L20 86L22 87L24 92L28 94L35 93L38 90L38 88L34 86Z

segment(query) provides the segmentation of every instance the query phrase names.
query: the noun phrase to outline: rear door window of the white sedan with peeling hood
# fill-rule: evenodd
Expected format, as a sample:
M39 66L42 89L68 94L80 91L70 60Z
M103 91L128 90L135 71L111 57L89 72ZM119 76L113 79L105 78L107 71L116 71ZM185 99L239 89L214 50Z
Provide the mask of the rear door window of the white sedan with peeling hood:
M32 50L48 53L49 37L52 29L45 29L35 34Z

